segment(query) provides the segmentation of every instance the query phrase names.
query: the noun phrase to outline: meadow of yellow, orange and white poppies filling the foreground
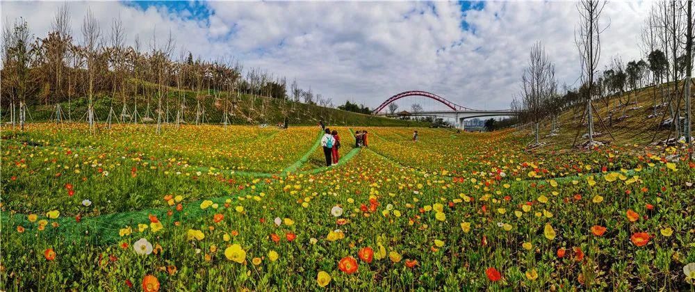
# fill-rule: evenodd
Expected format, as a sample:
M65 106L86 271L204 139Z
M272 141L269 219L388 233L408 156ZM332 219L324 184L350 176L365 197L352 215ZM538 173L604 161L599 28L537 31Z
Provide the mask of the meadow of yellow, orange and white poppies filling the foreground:
M683 147L417 130L3 128L0 290L694 289Z

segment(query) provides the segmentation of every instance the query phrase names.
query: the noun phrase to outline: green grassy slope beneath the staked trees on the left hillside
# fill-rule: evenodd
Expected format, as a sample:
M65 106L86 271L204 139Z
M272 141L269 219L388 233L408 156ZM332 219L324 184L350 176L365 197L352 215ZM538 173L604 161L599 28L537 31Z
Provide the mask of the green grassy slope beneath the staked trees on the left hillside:
M156 91L157 86L152 83L139 82L138 88L140 88L140 91L145 88L145 92L141 92L141 95L138 95L137 97L126 97L127 110L132 113L137 102L140 120L142 117L149 116L152 120L145 119L145 122L156 123L156 108L158 106L158 92ZM178 109L177 100L179 97L183 97L186 105L184 108L184 120L188 124L195 124L197 101L199 101L205 108L206 124L222 124L224 117L224 99L227 98L228 92L219 92L219 94L216 95L215 92L209 92L208 94L206 90L201 92L191 90L176 90L176 88L167 88L167 90L168 92L163 93L165 97L162 100L163 120L167 119L167 97L169 101L169 122L174 122L176 119ZM109 108L111 106L113 106L113 111L117 116L116 118L120 117L120 113L123 108L123 98L118 94L112 98L109 94L110 92L107 92L106 94L95 97L95 113L99 122L106 122ZM229 97L229 100L231 102L232 98ZM272 125L276 124L277 122L283 122L284 117L288 117L289 123L294 125L313 125L318 124L320 120L324 120L325 123L329 125L359 124L387 127L427 127L427 124L420 122L396 120L387 117L376 117L373 115L341 111L336 108L325 108L312 104L302 104L299 102L289 102L279 99L264 99L263 97L254 97L252 95L239 95L236 100L236 110L232 111L231 103L228 107L228 111L230 113L229 122L231 124L267 123ZM149 112L147 111L148 104ZM65 120L67 120L68 108L71 108L71 120L84 120L85 112L87 111L87 102L84 98L73 99L70 106L67 102L64 102L61 104L61 106L63 108L63 112L65 113ZM28 121L39 122L53 120L55 111L55 106L52 104L48 106L32 106L29 108L31 119L28 119ZM8 119L9 116L3 116L3 121ZM130 119L131 117L126 117L126 121Z

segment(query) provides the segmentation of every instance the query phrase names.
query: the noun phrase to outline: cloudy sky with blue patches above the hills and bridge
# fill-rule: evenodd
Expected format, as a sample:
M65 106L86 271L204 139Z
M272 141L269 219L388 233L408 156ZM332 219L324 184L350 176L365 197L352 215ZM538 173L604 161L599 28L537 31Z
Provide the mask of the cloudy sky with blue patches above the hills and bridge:
M600 68L612 56L644 58L639 31L653 3L612 1L603 10ZM44 37L63 2L0 2L2 25L23 17ZM172 33L179 49L207 60L234 58L296 80L300 88L375 108L399 92L424 90L461 106L509 108L535 42L559 84L579 86L575 2L232 2L67 3L74 38L88 10L105 38L117 17L127 42L147 49ZM178 55L178 54L176 54ZM443 106L442 106L443 108Z

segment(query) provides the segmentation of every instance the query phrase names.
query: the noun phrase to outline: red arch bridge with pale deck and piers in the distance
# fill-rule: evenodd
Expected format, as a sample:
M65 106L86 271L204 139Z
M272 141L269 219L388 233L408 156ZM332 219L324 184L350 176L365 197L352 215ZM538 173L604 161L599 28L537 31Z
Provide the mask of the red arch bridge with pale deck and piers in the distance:
M397 101L398 99L402 99L404 97L414 97L414 96L420 96L420 97L428 97L430 99L434 99L437 102L440 102L441 104L445 105L447 109L441 110L441 111L418 111L416 113L380 113L381 111L386 108L386 106L389 106L392 102ZM406 91L406 92L400 92L398 95L393 95L392 97L389 97L389 99L386 99L385 102L383 102L381 105L379 105L373 112L373 115L410 115L410 116L425 116L425 117L430 117L430 116L435 116L435 117L447 117L450 119L453 119L456 121L456 127L459 129L464 129L464 120L470 119L473 117L496 117L496 116L505 116L505 115L518 115L516 111L512 111L511 109L504 109L504 110L477 110L473 108L467 108L465 106L459 106L458 104L455 104L453 102L448 101L447 99L440 97L439 95L435 95L434 93L426 92L426 91L421 91L421 90L411 90L411 91Z

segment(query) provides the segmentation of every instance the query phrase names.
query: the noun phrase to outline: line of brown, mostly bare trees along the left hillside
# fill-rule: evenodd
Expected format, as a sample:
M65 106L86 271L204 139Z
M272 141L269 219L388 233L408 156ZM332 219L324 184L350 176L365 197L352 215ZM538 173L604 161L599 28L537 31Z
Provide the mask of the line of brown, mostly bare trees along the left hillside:
M261 106L272 99L333 106L332 99L311 88L299 88L297 81L288 85L284 76L259 68L244 69L232 58L205 60L193 56L185 47L177 46L170 32L163 42L157 38L161 34L153 31L149 40L135 35L133 44L127 45L129 35L120 17L103 31L88 8L78 33L73 33L70 17L67 4L58 9L44 38L35 38L22 18L3 25L0 99L3 115L9 113L13 124L24 126L28 106L55 105L58 118L86 120L93 127L97 119L95 103L104 97L111 97L106 117L109 122L138 122L138 118L145 118L138 117L145 103L146 111L150 104L155 108L156 114L150 118L162 119L166 108L167 113L177 112L179 119L184 107L194 106L185 104L186 91L196 92L196 99L223 99L225 115L235 106L239 94L251 95L252 104L255 99L262 100ZM75 102L85 102L86 113L72 113L70 108ZM68 111L61 104L67 104Z

